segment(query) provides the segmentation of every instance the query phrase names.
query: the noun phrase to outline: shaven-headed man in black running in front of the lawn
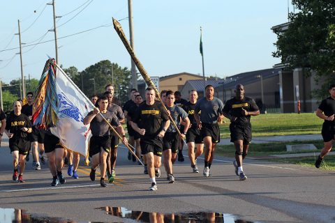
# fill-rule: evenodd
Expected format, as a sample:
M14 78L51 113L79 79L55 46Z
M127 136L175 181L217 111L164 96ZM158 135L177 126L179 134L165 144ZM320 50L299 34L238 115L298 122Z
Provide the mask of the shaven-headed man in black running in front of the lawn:
M239 180L246 180L242 167L242 160L248 154L251 142L251 116L258 116L260 110L253 98L244 96L244 86L235 86L235 97L228 100L223 108L223 114L230 119L230 141L235 146L235 161L233 162L235 174Z

